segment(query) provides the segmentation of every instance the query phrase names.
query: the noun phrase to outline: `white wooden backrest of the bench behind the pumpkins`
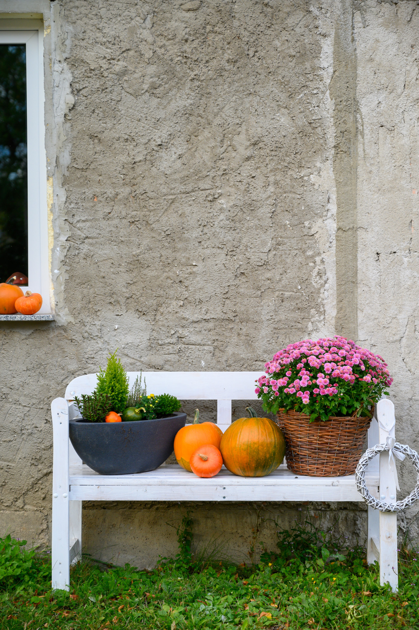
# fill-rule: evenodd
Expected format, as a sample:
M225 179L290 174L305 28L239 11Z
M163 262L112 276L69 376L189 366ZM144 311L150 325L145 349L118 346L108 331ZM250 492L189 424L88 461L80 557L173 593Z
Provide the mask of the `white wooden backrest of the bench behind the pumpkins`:
M172 394L181 400L216 400L217 423L221 430L232 422L232 400L255 400L255 380L263 372L142 372L142 385L148 394ZM140 372L128 372L130 387ZM91 394L96 374L73 379L65 390L65 399ZM223 428L225 427L225 428Z

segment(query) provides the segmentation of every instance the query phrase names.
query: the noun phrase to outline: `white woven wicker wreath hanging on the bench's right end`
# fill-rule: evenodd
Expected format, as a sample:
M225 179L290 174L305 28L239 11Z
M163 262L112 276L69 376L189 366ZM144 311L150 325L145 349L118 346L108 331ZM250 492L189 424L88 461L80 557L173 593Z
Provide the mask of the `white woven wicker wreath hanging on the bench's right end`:
M419 455L415 450L408 447L407 444L399 444L398 442L394 444L394 451L407 455L413 462L413 466L416 468L416 486L415 490L413 490L409 496L406 496L403 501L387 503L386 501L380 501L372 496L365 483L365 471L367 464L371 462L377 454L383 452L383 450L390 450L389 445L376 444L373 449L366 450L358 462L358 466L355 471L355 483L357 484L357 489L360 495L367 505L371 505L371 507L376 508L376 510L380 510L380 512L401 512L410 505L413 505L413 503L419 499Z

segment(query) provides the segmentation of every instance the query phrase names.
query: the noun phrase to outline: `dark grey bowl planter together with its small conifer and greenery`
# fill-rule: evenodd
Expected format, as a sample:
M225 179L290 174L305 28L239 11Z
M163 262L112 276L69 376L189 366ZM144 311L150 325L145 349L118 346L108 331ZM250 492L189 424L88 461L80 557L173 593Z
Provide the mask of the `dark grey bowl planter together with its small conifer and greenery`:
M100 474L144 473L159 467L186 422L177 398L147 396L141 375L130 391L116 352L109 356L106 370L99 369L96 389L81 399L75 396L75 404L80 416L69 422L71 443L82 461Z

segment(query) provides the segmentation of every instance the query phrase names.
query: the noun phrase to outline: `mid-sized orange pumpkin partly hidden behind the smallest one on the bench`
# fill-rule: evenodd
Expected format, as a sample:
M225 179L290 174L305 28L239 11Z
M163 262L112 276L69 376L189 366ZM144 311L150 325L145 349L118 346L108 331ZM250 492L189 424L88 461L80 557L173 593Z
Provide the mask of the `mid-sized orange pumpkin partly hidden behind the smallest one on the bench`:
M193 424L182 427L174 439L174 452L179 466L192 473L189 460L193 452L203 444L212 444L219 449L222 435L221 429L213 422L199 424L199 411L196 409Z

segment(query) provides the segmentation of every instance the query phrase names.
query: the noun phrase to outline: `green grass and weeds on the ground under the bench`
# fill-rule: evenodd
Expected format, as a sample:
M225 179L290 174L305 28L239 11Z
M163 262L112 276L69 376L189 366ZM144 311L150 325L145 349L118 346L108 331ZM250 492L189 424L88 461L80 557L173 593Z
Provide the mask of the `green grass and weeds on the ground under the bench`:
M13 541L0 540L1 629L419 627L419 556L407 548L399 553L399 592L391 593L379 586L378 567L366 566L362 549L337 551L330 532L309 523L280 531L277 552L263 551L255 566L194 558L189 517L178 536L176 559L162 559L153 571L86 558L72 567L69 593L52 592L47 553L19 547L18 556Z

